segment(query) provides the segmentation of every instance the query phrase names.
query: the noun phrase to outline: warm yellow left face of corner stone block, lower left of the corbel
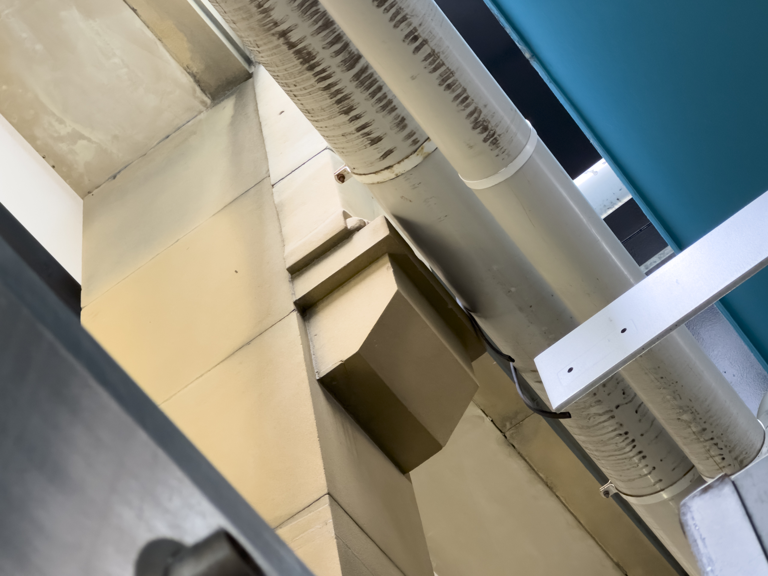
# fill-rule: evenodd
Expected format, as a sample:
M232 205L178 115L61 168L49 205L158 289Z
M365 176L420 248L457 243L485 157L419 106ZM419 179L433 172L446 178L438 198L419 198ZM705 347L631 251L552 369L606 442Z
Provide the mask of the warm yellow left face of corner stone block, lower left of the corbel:
M291 313L161 404L273 528L328 492Z

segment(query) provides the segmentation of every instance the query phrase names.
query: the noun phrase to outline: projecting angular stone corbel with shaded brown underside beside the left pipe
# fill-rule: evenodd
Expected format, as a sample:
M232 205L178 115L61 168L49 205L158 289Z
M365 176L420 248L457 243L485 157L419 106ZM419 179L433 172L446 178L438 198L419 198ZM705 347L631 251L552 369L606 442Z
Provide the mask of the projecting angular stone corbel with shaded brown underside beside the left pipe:
M317 260L294 290L326 390L402 472L438 452L475 394L482 346L389 223Z

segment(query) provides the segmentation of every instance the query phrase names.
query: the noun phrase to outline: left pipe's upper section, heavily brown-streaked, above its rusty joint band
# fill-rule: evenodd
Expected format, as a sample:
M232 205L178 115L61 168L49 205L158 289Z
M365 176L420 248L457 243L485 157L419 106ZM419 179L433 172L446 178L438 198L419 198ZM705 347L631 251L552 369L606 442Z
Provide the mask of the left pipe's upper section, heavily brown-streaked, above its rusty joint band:
M356 174L427 135L317 0L212 0L256 60Z

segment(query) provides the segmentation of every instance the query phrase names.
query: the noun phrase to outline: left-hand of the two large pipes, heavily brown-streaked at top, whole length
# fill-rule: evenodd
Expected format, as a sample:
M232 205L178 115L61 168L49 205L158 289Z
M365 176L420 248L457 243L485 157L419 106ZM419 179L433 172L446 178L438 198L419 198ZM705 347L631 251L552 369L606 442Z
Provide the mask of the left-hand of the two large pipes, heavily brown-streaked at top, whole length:
M386 180L392 167L382 169L382 150L399 147L389 154L393 164L413 157L419 137L403 145L392 118L397 118L396 129L406 124L409 131L423 133L317 2L215 3L354 172ZM370 104L382 96L379 104ZM368 133L366 139L349 141L360 132ZM371 189L496 343L514 350L521 371L534 375L533 357L577 323L441 151ZM621 376L571 413L565 425L625 494L658 493L692 468ZM687 544L681 534L675 538L682 558Z

